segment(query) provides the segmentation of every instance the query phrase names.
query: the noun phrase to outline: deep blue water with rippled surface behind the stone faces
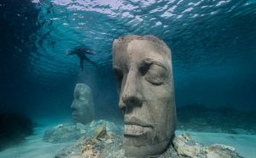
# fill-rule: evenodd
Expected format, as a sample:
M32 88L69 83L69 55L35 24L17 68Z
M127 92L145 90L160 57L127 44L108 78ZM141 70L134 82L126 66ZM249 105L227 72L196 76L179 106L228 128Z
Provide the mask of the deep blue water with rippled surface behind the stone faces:
M0 1L2 111L69 118L73 88L84 82L92 88L96 116L121 120L112 42L126 34L153 34L172 49L177 113L200 105L220 108L218 115L255 114L255 0L17 2ZM66 55L79 45L96 52L89 58L99 68L84 63L81 71L79 59Z

